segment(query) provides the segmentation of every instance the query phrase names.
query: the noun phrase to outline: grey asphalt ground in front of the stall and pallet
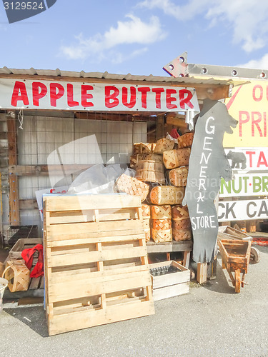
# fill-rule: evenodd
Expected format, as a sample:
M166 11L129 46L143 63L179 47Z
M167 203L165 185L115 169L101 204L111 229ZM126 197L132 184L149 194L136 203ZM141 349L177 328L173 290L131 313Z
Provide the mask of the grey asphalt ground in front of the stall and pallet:
M221 260L217 278L154 303L155 315L48 336L42 306L4 308L0 356L268 356L268 247L234 293Z

